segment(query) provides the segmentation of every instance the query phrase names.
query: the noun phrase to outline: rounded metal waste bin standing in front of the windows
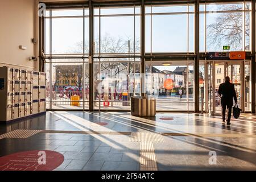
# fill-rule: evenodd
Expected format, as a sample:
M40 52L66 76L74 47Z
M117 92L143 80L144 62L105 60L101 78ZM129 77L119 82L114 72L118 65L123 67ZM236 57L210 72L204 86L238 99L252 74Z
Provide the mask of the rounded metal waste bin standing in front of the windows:
M155 116L154 97L131 97L131 115Z

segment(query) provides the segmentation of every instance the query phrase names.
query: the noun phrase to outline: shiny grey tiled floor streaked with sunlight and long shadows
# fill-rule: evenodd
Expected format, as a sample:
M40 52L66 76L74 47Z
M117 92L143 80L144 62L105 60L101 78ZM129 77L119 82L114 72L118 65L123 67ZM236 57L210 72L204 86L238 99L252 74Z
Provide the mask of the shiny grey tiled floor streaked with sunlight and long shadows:
M17 129L43 131L26 139L0 139L0 157L19 151L57 151L64 162L55 170L140 170L143 141L134 142L131 133L163 136L163 142L147 141L153 143L158 170L256 169L256 116L250 114L226 126L219 116L207 114L157 113L139 118L128 112L48 111L0 125L0 135Z

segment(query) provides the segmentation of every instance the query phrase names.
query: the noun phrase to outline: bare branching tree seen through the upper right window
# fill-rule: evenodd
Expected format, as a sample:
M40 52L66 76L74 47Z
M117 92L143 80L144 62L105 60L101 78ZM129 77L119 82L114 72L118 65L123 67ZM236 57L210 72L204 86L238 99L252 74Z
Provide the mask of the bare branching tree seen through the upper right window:
M249 4L246 4L249 9ZM230 4L226 6L218 6L221 11L242 10L241 4ZM208 14L210 17L211 14ZM243 40L243 13L229 12L213 14L214 21L207 26L207 47L220 48L222 46L230 46L230 49L242 49ZM250 17L245 16L245 35L248 39L250 36ZM248 48L248 45L246 45Z

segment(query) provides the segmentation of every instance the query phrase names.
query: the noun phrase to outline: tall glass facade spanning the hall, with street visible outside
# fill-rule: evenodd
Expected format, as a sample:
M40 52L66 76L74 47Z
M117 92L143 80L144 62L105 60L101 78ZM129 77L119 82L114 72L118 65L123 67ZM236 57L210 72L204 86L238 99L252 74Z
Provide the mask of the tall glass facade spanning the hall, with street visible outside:
M200 110L216 111L216 89L229 75L234 82L239 77L236 88L242 109L251 111L250 60L199 61L195 56L197 45L199 53L250 52L250 2L200 3L199 43L193 3L145 5L144 15L139 5L94 6L92 58L89 18L87 7L47 10L43 40L47 109L88 110L92 98L94 110L130 110L130 98L144 93L156 98L158 111L195 111L196 98Z

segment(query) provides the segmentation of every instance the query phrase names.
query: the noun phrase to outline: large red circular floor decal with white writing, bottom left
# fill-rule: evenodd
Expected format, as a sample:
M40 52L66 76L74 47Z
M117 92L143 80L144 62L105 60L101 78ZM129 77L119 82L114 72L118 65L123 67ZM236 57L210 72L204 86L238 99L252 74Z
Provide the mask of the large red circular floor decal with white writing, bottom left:
M62 164L64 156L48 150L24 151L2 156L0 171L52 171Z

